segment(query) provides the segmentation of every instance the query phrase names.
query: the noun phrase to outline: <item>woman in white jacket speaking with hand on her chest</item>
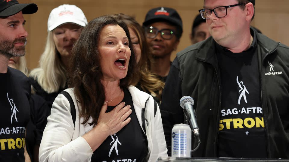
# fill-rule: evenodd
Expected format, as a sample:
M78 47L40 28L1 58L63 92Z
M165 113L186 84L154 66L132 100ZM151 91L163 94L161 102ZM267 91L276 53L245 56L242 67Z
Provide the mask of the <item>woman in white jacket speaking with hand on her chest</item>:
M167 156L159 107L139 91L129 30L112 16L93 19L72 49L66 89L55 99L39 161L156 161Z

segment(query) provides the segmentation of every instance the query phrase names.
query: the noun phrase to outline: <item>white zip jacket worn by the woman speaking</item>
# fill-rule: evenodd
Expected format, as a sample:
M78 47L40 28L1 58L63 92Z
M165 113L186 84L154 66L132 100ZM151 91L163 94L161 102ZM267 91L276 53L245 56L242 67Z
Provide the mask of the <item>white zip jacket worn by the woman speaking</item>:
M148 140L148 161L156 161L158 157L167 157L166 141L163 133L160 109L154 115L154 99L151 95L138 90L134 86L128 87L132 96L138 122ZM89 132L93 125L85 124L83 118L79 118L80 104L76 101L73 88L66 89L73 99L76 108L76 121L73 125L70 113L70 104L66 97L59 94L55 99L51 115L47 118L47 125L43 132L39 148L39 161L90 161L93 154L89 144L81 137ZM147 122L145 122L145 119Z

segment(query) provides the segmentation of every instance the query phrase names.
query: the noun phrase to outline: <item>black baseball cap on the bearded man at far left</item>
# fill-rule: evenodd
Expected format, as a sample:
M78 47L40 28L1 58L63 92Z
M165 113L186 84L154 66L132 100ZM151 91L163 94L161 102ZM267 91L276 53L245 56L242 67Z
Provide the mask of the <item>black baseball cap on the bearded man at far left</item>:
M23 14L36 13L38 7L34 3L19 4L16 0L0 0L0 16L11 16L22 11Z

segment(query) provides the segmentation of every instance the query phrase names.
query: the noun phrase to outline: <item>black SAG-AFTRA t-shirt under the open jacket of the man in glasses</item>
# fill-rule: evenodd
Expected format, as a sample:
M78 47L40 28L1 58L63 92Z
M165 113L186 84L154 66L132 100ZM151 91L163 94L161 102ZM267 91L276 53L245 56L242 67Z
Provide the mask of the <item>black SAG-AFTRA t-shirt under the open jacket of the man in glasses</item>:
M222 83L218 156L267 158L256 37L241 53L218 44L216 50Z

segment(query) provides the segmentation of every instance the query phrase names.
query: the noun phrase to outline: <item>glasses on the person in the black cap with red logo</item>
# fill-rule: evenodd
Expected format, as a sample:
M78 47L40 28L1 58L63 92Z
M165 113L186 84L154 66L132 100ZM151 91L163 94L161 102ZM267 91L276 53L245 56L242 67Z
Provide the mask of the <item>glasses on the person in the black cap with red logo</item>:
M144 32L147 38L156 38L158 33L160 32L161 37L166 40L172 39L172 37L175 35L175 31L172 29L159 30L152 26L145 27Z

